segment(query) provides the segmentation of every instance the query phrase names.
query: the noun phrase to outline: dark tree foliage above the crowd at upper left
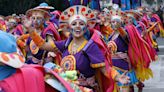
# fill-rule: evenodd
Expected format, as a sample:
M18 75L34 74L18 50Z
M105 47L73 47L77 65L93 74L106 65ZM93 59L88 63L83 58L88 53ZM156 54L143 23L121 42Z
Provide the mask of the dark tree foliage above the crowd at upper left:
M57 10L64 10L64 0L0 0L0 15L24 14L28 9L46 2Z

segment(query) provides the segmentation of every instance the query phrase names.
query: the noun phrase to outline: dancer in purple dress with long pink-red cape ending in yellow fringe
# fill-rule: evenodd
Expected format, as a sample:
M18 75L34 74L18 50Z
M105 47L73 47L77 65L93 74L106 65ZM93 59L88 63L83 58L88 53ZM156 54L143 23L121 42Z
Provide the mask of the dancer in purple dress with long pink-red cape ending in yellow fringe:
M130 86L137 84L139 82L138 79L142 78L143 80L145 80L144 76L141 77L139 75L143 75L146 73L147 74L146 79L152 76L152 72L148 68L148 66L144 67L141 64L135 63L137 64L136 66L134 62L147 62L146 64L149 65L149 63L152 61L151 60L152 58L149 58L150 54L145 49L145 48L149 48L148 44L143 42L141 37L138 35L135 26L127 25L125 26L125 29L124 26L122 26L123 22L126 23L128 19L126 14L124 12L121 12L118 8L114 8L114 9L115 10L110 11L111 26L114 30L114 33L110 36L110 41L108 43L108 46L113 50L112 63L115 69L119 73L128 71L127 76L130 77L130 83L123 85L118 82L118 86L120 87L120 90L122 90L123 92L129 92ZM136 37L136 39L132 35L135 35L134 37ZM141 47L142 46L144 47L143 48L140 48L140 46L133 47L134 46L133 44L136 43L140 43ZM137 53L137 55L141 60L137 58L132 59L134 58L134 56L132 56L131 54L135 55L133 52L134 49L135 50L138 49L137 51L146 51L147 54L145 55L145 57L142 57L142 55L140 55L141 52L139 52ZM137 69L141 69L143 70L143 72Z

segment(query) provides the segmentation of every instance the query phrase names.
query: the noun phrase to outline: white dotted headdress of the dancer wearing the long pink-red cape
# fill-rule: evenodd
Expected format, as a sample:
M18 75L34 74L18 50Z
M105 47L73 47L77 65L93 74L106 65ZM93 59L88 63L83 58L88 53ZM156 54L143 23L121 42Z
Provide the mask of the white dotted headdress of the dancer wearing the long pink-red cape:
M117 5L113 6L113 10L110 10L109 14L111 16L111 20L126 22L128 18L128 16L126 16L126 14L123 11L121 11Z

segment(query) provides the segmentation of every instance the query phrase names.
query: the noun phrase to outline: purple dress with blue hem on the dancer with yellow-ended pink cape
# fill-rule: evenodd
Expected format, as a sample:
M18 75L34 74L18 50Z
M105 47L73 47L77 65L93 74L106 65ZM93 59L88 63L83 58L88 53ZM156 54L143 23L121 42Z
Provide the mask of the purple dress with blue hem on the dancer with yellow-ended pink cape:
M125 39L119 35L113 41L117 45L116 53L121 52L123 54L125 54L125 53L127 54L129 39ZM136 77L135 71L133 70L133 68L131 68L130 62L128 61L128 54L124 58L112 58L112 63L113 63L113 66L117 67L116 70L120 74L123 74L125 72L123 70L128 70L128 72L126 73L126 76L128 76L130 78L130 82L128 84L122 84L122 83L118 82L117 83L118 86L130 86L130 85L134 85L134 84L138 83L138 79Z

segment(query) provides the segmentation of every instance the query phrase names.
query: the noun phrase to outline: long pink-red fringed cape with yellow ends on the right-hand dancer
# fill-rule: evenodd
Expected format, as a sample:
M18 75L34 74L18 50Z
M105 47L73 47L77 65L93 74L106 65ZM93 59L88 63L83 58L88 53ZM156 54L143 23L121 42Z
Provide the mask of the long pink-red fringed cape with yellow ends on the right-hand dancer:
M151 48L140 37L137 29L133 25L126 26L126 29L130 38L128 55L132 66L135 68L136 76L141 81L148 80L153 77L153 73L149 69L149 65L154 57L151 55Z

